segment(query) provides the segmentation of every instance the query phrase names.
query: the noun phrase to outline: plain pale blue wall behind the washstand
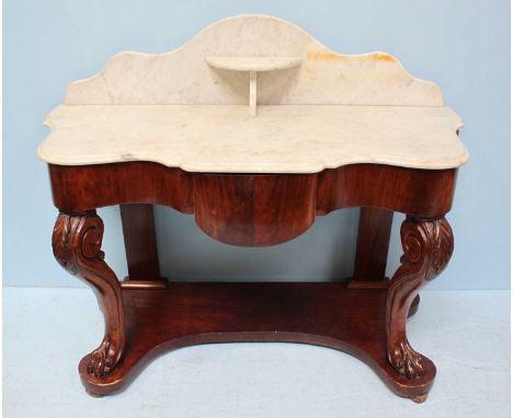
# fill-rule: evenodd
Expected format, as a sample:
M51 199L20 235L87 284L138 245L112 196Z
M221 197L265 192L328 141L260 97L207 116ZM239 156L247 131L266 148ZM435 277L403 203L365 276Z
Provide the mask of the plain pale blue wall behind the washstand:
M510 287L510 2L508 0L4 0L3 280L81 286L54 260L57 214L44 163L45 115L66 85L122 50L173 49L205 25L240 13L298 24L334 50L384 50L441 85L466 121L471 161L460 170L453 211L456 248L431 288ZM318 218L287 244L255 249L213 241L192 217L156 209L163 274L180 280L337 280L351 275L357 209ZM126 275L118 208L100 210L106 259ZM388 270L398 265L395 218Z

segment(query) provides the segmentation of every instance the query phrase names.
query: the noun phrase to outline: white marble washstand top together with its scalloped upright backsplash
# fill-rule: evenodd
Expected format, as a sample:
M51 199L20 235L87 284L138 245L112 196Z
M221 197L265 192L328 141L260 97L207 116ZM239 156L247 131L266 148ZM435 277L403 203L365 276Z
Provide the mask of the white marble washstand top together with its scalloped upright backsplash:
M256 118L246 107L248 72L214 68L212 57L275 69L259 73ZM333 53L266 15L221 20L170 53L118 54L72 82L46 125L38 155L60 165L314 173L355 163L442 170L468 160L456 135L463 121L436 84L388 54Z

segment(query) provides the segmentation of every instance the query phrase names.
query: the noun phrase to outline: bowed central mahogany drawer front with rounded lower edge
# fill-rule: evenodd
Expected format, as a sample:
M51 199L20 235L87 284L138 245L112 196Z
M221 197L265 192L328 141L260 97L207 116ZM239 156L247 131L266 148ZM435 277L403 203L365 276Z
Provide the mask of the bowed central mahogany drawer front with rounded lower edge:
M226 244L265 246L289 241L316 218L314 175L194 176L196 224Z

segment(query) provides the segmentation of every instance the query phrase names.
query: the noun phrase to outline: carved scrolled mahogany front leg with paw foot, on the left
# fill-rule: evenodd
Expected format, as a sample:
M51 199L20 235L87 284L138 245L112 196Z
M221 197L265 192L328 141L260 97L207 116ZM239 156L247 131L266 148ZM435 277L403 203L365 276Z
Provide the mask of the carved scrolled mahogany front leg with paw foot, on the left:
M105 336L89 356L87 372L106 376L117 364L125 346L123 297L116 275L103 260L103 221L94 210L59 213L52 236L57 262L94 290L105 318Z

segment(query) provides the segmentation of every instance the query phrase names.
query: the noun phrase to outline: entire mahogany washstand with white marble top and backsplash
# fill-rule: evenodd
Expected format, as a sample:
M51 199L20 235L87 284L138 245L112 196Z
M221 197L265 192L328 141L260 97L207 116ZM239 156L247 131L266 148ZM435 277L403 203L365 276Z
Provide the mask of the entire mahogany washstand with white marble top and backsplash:
M426 398L435 367L410 346L406 323L453 253L445 214L468 160L437 85L388 54L333 53L290 23L242 15L171 53L116 55L71 83L46 124L38 154L59 210L54 254L93 288L105 317L103 341L79 364L91 395L122 391L178 347L290 341L346 351L396 394ZM124 281L101 251L95 208L110 205L121 205ZM152 205L240 246L280 244L316 216L362 207L354 275L168 283ZM394 211L406 213L403 256L388 279Z

